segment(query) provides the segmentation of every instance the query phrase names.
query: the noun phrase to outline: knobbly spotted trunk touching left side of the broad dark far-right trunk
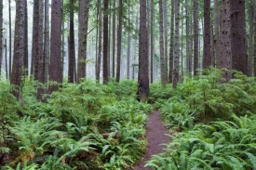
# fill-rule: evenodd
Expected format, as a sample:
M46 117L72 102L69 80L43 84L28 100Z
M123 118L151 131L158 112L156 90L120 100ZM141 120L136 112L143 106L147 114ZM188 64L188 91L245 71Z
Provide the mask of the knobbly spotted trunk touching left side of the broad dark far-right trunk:
M222 1L222 34L221 34L221 59L218 68L231 70L231 42L230 42L230 0ZM230 72L224 72L223 78L228 81Z

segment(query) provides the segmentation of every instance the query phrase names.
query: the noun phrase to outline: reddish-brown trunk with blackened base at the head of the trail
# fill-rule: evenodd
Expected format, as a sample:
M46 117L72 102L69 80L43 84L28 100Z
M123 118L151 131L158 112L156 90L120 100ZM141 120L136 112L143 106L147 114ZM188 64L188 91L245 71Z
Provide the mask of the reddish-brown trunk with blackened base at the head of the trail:
M139 49L139 80L138 95L141 102L146 102L149 96L148 78L148 35L146 0L140 0L140 49Z

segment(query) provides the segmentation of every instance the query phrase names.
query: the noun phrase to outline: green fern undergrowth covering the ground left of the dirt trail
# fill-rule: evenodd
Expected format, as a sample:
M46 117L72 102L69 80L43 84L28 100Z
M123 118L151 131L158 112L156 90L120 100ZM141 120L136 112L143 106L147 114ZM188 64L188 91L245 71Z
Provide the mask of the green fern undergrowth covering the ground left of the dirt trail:
M0 82L1 169L128 169L145 151L148 104L136 100L134 82L63 83L36 100L26 77L21 98Z

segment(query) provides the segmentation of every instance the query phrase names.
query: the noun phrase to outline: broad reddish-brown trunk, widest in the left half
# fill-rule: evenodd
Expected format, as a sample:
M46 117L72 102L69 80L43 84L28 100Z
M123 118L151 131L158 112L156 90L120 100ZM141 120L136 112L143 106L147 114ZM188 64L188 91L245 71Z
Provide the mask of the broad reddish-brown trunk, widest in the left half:
M62 83L61 62L61 0L51 1L51 32L50 32L50 64L49 80ZM50 85L49 92L58 89L57 85Z

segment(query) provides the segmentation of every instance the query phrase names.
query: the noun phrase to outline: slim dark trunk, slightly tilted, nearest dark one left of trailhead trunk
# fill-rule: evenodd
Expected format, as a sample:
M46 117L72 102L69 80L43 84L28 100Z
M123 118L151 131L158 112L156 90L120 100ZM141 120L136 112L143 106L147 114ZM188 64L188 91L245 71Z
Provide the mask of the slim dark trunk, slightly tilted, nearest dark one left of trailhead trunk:
M122 24L123 24L123 0L119 0L119 23L117 30L117 62L116 62L116 82L120 81L121 72L121 52L122 52Z

